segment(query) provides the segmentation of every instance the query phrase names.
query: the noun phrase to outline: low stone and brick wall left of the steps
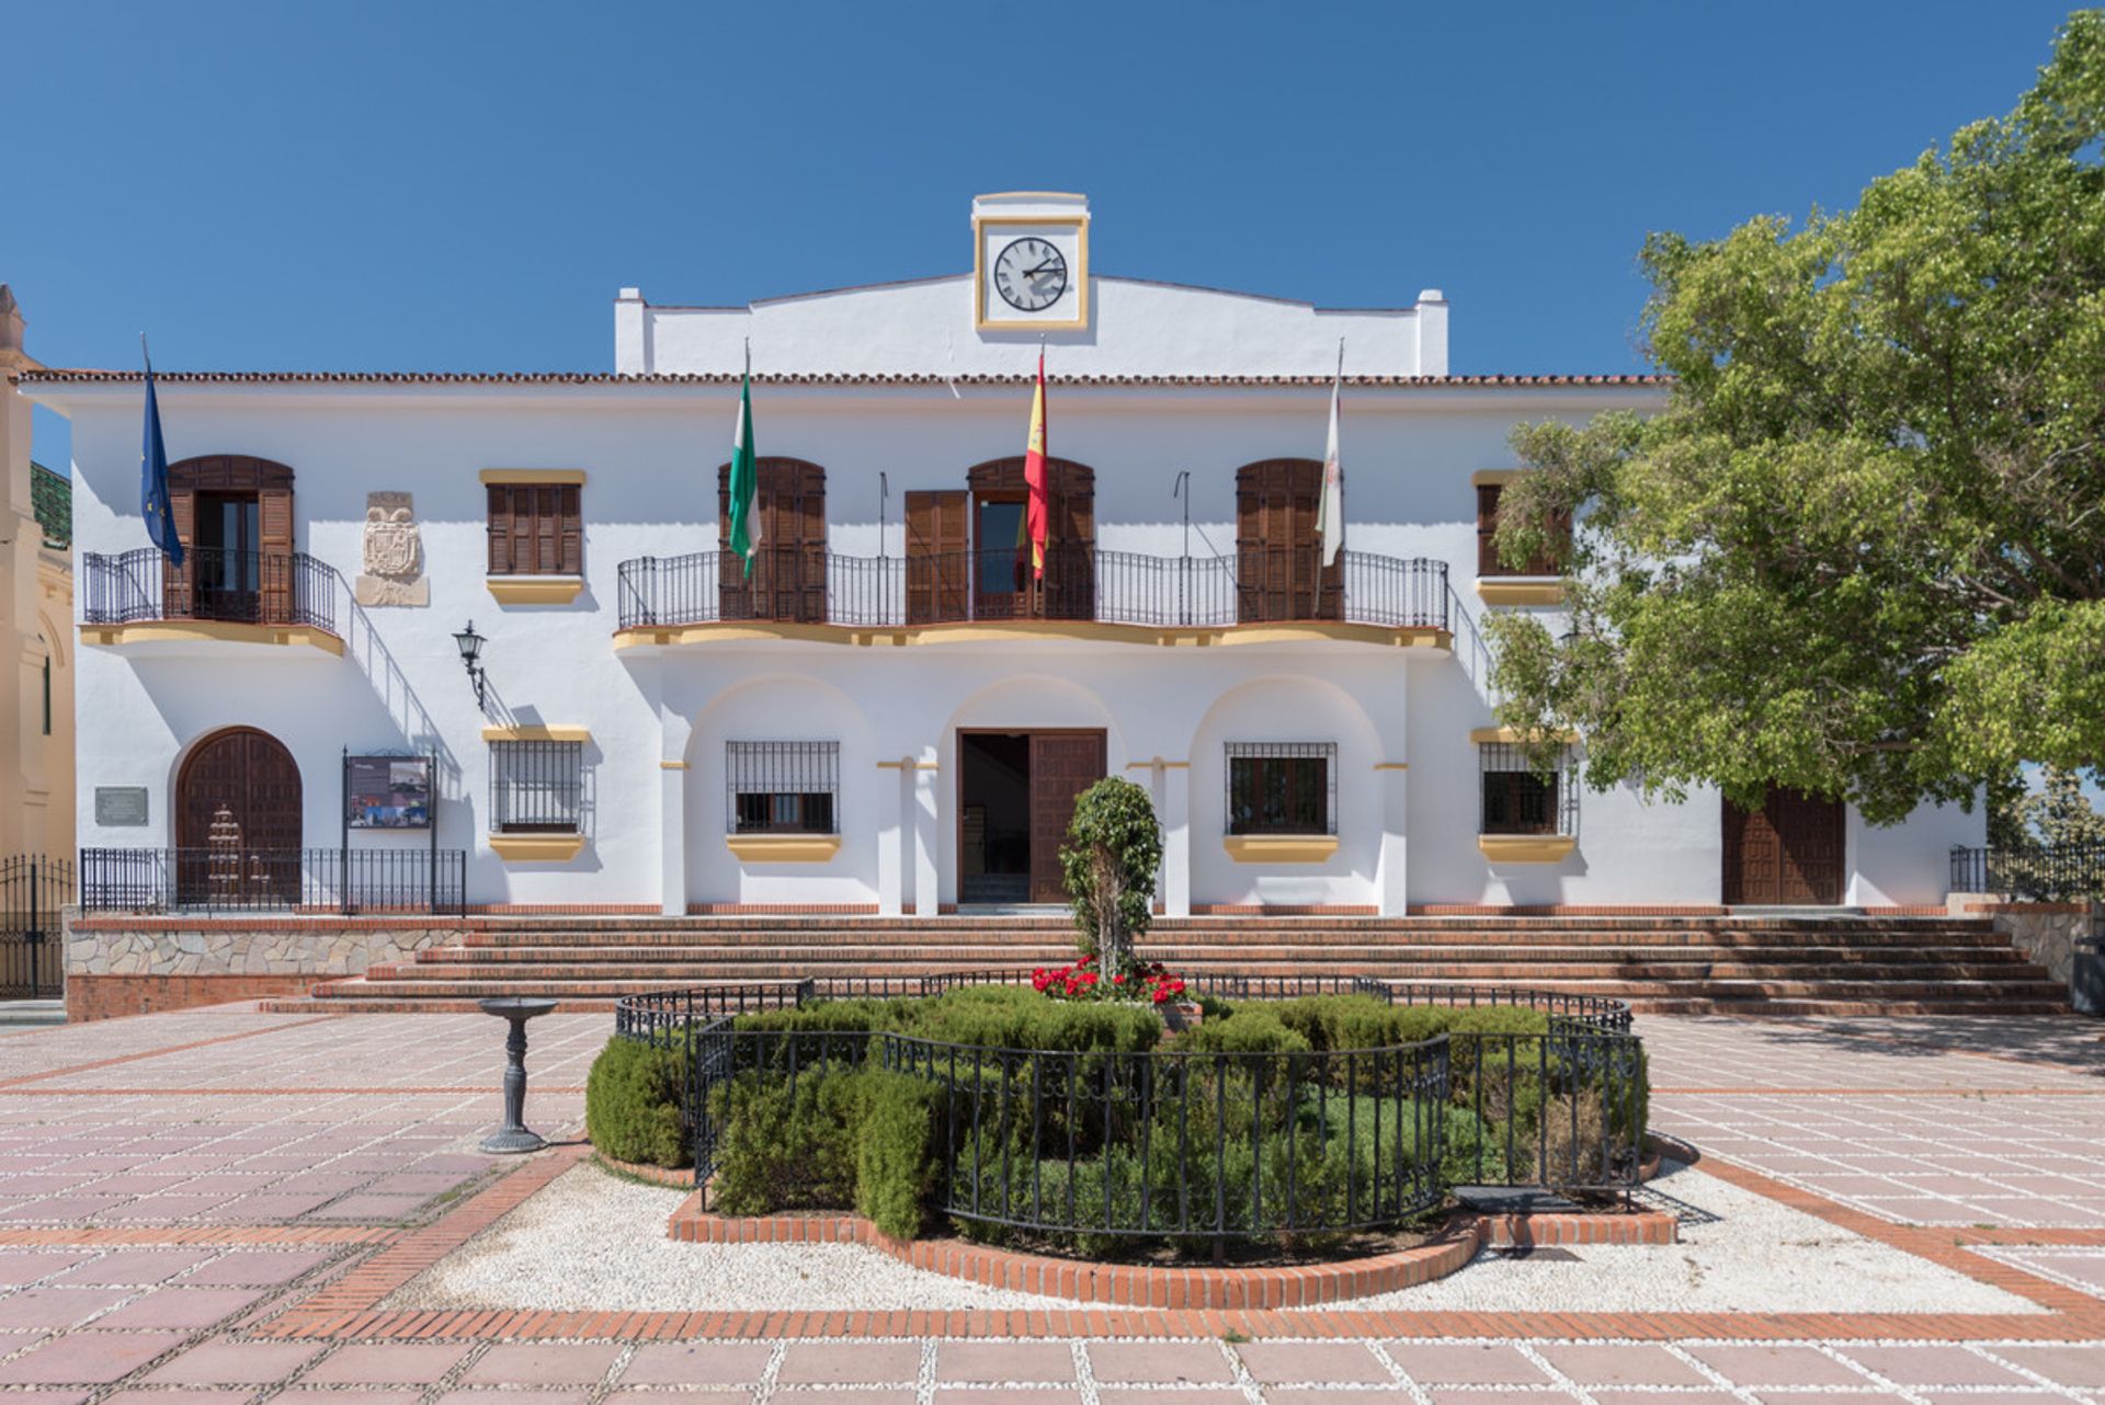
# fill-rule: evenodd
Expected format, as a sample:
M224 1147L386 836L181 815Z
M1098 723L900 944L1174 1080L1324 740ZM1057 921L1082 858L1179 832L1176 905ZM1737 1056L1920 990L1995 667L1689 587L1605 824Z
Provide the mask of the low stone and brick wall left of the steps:
M459 942L434 917L120 917L65 923L65 1016L107 1020L234 999L305 995L318 980L415 961Z

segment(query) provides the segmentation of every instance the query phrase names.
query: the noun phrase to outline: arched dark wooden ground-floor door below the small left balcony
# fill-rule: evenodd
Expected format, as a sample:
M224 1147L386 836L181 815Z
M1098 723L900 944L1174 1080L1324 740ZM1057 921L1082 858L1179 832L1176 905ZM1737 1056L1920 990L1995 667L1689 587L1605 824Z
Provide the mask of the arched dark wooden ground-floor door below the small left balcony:
M198 742L175 782L183 902L299 902L299 766L269 732L227 728Z

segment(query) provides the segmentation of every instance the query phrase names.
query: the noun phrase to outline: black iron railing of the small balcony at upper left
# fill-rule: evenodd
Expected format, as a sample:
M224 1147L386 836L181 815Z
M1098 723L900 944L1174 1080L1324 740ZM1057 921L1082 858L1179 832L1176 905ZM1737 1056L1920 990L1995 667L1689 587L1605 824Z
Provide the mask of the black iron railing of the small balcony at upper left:
M88 625L225 620L303 625L341 633L333 566L303 551L189 549L171 566L158 547L80 557L80 618Z

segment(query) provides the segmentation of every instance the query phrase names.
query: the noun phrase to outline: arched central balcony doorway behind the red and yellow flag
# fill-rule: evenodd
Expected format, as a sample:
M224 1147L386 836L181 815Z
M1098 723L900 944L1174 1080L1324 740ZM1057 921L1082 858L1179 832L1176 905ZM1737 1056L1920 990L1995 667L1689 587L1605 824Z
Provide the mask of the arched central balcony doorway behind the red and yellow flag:
M973 618L1097 618L1097 471L1046 459L1046 570L1017 547L1029 488L1023 459L989 459L966 469L973 494ZM1027 538L1025 538L1027 541Z

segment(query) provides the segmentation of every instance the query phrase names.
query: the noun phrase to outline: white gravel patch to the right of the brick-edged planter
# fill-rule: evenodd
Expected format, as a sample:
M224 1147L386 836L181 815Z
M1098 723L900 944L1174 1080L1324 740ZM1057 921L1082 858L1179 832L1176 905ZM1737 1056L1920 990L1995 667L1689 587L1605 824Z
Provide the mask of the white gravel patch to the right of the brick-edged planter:
M1673 1245L1478 1254L1360 1308L1469 1312L2042 1312L2040 1304L1669 1161L1642 1195L1682 1214ZM1695 1214L1690 1214L1695 1211Z

